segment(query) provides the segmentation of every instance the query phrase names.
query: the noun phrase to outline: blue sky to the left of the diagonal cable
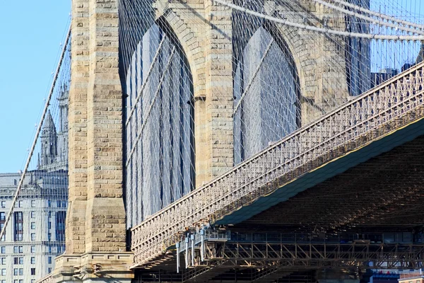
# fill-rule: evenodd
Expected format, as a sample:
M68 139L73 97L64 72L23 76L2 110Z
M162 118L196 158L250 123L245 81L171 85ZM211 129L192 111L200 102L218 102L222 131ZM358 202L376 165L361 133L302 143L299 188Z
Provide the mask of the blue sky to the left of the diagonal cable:
M71 1L2 1L1 11L0 173L6 173L23 169Z

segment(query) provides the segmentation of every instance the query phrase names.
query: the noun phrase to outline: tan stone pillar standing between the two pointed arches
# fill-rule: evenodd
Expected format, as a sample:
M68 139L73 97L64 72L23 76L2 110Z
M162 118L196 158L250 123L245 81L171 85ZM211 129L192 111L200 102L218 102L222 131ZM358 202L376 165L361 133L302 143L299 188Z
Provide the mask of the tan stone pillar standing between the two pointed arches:
M232 12L212 0L204 7L206 96L195 104L196 131L201 131L196 133L197 187L233 166Z

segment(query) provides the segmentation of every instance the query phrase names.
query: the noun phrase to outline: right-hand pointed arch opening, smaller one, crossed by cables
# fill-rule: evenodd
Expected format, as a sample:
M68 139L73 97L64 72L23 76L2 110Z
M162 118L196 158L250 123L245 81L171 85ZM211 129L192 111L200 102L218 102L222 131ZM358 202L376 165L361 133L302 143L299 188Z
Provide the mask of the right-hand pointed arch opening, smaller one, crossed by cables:
M300 127L300 82L293 55L272 23L236 30L233 50L237 164Z

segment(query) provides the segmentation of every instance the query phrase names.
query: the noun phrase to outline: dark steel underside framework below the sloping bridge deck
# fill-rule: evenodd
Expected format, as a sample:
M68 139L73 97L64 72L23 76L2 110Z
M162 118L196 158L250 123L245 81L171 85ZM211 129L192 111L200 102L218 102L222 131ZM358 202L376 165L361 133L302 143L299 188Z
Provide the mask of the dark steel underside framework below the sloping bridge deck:
M336 166L343 168L343 173L239 224L226 225L231 236L228 240L222 237L225 240L206 241L204 260L198 246L194 248L194 265L184 263L185 253L175 253L175 247L170 248L157 261L146 262L139 278L148 282L160 274L164 281L174 282L203 282L211 278L273 282L299 270L422 268L423 238L413 238L422 233L416 229L424 222L422 134L424 121L419 120L374 141L376 144L333 161L334 164L326 164L323 170L331 172L331 166ZM406 142L391 149L402 141ZM373 154L372 147L378 152L391 150L346 170L343 163L350 162L344 158L353 155L351 158L363 161L363 156ZM302 178L307 178L307 174ZM232 223L230 217L232 214L226 217L227 223ZM275 231L298 233L285 235ZM325 233L336 236L331 238ZM361 240L348 240L348 235L359 235ZM407 238L402 239L402 235ZM192 260L190 252L189 257ZM176 273L178 264L180 272Z

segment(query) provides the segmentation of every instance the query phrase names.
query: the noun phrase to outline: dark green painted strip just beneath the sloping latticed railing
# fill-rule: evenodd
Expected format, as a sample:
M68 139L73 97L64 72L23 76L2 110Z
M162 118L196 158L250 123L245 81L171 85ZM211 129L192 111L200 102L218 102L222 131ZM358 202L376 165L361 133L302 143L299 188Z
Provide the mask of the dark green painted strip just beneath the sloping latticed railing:
M245 221L280 202L285 202L290 197L297 195L299 192L322 183L335 175L347 171L349 168L353 168L372 157L390 151L394 147L400 146L401 144L411 141L423 134L424 119L412 122L411 124L391 132L380 139L372 141L370 144L367 144L360 149L351 151L344 156L336 158L310 173L301 175L298 179L283 185L270 195L260 197L252 204L242 207L235 212L232 212L232 214L224 216L223 219L216 221L215 224L237 224Z

